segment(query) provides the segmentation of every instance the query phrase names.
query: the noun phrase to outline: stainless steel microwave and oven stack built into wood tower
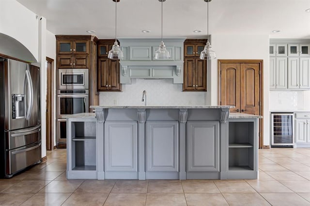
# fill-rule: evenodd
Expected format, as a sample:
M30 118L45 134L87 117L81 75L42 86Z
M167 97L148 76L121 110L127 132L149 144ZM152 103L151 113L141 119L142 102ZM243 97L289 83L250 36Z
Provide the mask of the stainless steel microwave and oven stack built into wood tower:
M57 147L66 147L66 115L89 111L88 69L58 69Z

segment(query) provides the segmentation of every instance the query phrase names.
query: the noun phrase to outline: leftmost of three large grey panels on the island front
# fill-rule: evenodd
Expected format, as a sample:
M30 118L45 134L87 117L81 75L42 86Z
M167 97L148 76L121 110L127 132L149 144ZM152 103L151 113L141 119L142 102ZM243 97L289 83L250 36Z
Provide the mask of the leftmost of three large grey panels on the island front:
M138 135L136 121L106 121L104 170L106 179L138 178Z

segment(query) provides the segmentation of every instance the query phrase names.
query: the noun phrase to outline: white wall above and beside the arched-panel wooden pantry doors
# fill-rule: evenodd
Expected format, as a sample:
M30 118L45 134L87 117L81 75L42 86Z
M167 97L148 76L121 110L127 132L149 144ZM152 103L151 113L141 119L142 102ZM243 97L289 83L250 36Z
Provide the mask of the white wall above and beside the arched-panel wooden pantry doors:
M269 126L269 36L214 34L211 45L217 59L263 59L263 145L270 145ZM206 103L217 104L217 59L208 69ZM209 67L210 68L210 67Z

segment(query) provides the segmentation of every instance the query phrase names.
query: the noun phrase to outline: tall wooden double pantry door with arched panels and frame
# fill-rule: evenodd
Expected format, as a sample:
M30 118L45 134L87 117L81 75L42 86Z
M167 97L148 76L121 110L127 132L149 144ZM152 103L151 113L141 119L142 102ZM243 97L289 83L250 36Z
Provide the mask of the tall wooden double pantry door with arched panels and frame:
M218 60L218 104L233 105L232 113L263 116L263 60ZM260 148L263 121L260 119Z

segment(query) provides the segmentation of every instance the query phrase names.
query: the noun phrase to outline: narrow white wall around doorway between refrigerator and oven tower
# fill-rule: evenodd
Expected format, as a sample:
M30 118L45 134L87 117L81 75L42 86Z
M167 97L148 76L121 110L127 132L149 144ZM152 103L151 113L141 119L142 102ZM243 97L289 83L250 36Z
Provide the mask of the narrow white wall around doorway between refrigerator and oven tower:
M53 95L54 95L54 114L53 114L53 119L54 119L54 146L56 146L56 37L55 34L50 32L49 30L46 31L46 54L47 57L50 59L54 59L54 90L53 90Z

